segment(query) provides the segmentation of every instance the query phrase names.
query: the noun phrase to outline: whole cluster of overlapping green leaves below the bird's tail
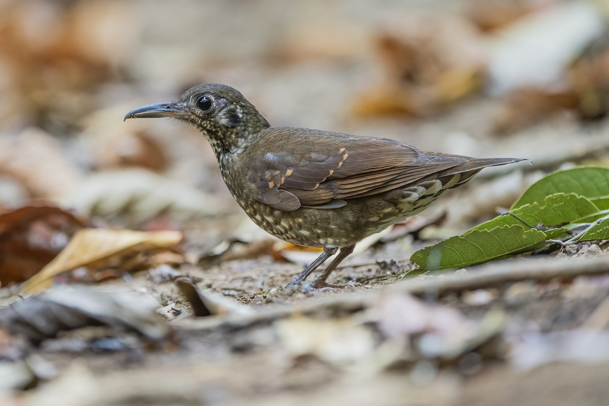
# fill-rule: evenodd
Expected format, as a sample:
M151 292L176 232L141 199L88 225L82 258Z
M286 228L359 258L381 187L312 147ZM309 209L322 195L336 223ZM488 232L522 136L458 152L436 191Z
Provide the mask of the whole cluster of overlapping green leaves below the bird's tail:
M599 223L574 239L609 239L609 169L577 167L551 173L530 186L510 211L519 219L501 215L462 236L415 252L410 260L420 269L412 273L481 264L534 251L544 247L548 239L562 238L594 220ZM524 223L548 229L530 228Z

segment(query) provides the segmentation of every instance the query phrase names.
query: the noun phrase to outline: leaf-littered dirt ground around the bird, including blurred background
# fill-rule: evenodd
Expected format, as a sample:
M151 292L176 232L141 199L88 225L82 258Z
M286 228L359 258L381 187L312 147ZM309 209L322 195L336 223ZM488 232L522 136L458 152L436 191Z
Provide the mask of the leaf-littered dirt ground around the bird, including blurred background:
M544 174L607 166L608 15L560 0L0 4L0 405L606 405L606 241L407 272ZM535 60L519 54L527 27L549 52L557 24L581 38L548 56L554 82L496 68ZM123 122L205 82L276 126L530 163L361 242L329 279L352 286L286 289L320 251L247 219L193 128ZM88 259L24 292L90 229L72 254Z

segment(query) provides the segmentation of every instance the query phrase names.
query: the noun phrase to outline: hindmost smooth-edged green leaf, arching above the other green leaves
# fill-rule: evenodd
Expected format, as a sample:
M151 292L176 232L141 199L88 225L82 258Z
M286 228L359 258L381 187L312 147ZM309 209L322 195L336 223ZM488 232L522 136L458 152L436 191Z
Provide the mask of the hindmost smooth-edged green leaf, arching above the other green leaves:
M546 196L557 193L575 193L587 197L601 210L609 209L609 168L582 166L552 172L533 183L512 209L541 204Z

